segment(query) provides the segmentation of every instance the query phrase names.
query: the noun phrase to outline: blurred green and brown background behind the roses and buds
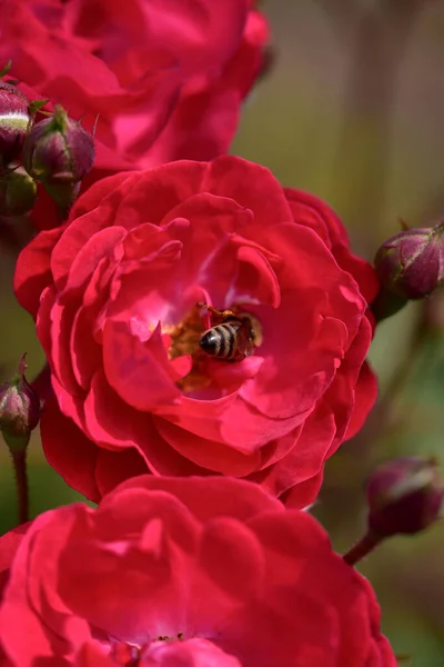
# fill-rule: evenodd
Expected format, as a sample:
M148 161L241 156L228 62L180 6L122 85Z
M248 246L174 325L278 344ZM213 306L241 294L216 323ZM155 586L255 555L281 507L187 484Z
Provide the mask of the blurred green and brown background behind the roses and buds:
M421 227L443 217L444 2L269 0L261 8L275 51L245 103L232 152L326 199L369 260L400 230L400 218ZM23 351L32 377L43 356L14 301L13 258L0 251L0 379ZM363 486L375 465L402 454L442 455L444 298L411 303L381 323L370 358L380 402L329 462L312 509L340 552L365 527ZM46 464L38 432L29 461L33 516L80 498ZM14 524L12 466L0 442L0 532ZM390 540L360 569L376 589L401 664L444 666L444 525Z

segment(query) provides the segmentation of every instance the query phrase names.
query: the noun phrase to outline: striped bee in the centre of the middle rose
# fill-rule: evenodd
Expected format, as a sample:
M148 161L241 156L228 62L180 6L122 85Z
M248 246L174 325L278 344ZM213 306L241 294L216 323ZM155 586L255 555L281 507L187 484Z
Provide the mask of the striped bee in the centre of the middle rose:
M206 308L219 320L216 325L206 329L199 340L200 348L210 357L221 361L242 361L261 345L260 325L252 315L218 310L206 303L196 303L196 306Z

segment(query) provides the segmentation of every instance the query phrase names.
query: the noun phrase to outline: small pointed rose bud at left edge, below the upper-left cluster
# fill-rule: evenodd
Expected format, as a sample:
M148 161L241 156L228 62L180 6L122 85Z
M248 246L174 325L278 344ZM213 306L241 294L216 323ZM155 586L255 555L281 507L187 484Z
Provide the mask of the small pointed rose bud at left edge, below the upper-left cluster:
M24 358L12 379L0 386L0 430L12 452L27 447L40 419L40 400L24 377Z

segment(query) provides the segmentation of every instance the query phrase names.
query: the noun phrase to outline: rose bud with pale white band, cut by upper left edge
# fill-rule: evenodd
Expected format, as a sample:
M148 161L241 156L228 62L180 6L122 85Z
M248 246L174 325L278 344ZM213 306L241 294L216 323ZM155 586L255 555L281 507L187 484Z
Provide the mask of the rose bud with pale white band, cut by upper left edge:
M16 86L0 81L0 167L18 158L29 123L28 100Z

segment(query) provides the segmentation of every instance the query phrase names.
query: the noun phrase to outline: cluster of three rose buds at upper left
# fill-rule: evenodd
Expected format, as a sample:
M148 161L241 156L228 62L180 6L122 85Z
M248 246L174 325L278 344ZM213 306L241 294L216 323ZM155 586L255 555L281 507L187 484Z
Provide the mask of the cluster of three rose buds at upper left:
M40 182L65 217L92 168L94 140L62 107L36 122L46 102L0 82L0 216L31 211Z

